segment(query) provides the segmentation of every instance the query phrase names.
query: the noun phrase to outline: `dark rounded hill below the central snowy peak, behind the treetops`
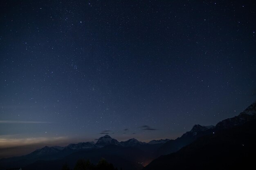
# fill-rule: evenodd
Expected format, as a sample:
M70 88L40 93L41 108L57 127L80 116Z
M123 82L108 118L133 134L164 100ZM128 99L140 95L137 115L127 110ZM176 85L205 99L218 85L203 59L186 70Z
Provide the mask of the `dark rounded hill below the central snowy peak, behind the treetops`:
M90 159L92 163L96 164L102 157L115 167L122 167L123 170L141 170L144 162L153 160L148 153L136 148L109 145L99 149L74 152L59 160L36 161L25 166L22 170L57 170L61 169L64 163L74 167L76 161L82 158Z

